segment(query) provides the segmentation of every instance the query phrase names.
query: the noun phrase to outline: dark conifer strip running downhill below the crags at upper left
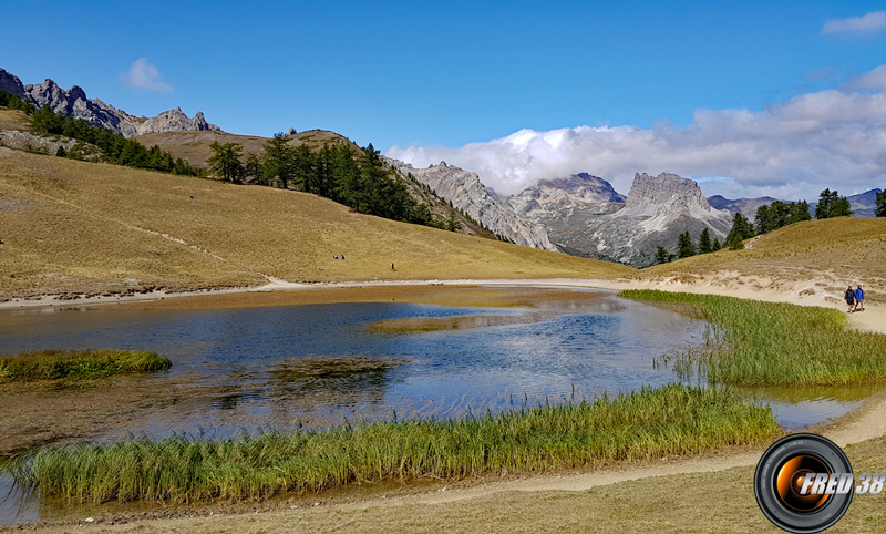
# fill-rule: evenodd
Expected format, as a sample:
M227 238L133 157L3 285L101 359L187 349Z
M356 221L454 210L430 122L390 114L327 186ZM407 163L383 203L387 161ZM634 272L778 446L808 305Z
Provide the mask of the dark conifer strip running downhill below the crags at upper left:
M31 114L31 131L64 135L90 143L102 151L105 160L117 165L186 176L203 175L202 170L193 168L181 157L173 160L168 152L159 150L157 145L146 148L137 141L127 140L112 130L93 126L82 119L65 116L63 113L55 113L48 105ZM59 151L56 155L76 157L76 154L68 154L63 150Z

